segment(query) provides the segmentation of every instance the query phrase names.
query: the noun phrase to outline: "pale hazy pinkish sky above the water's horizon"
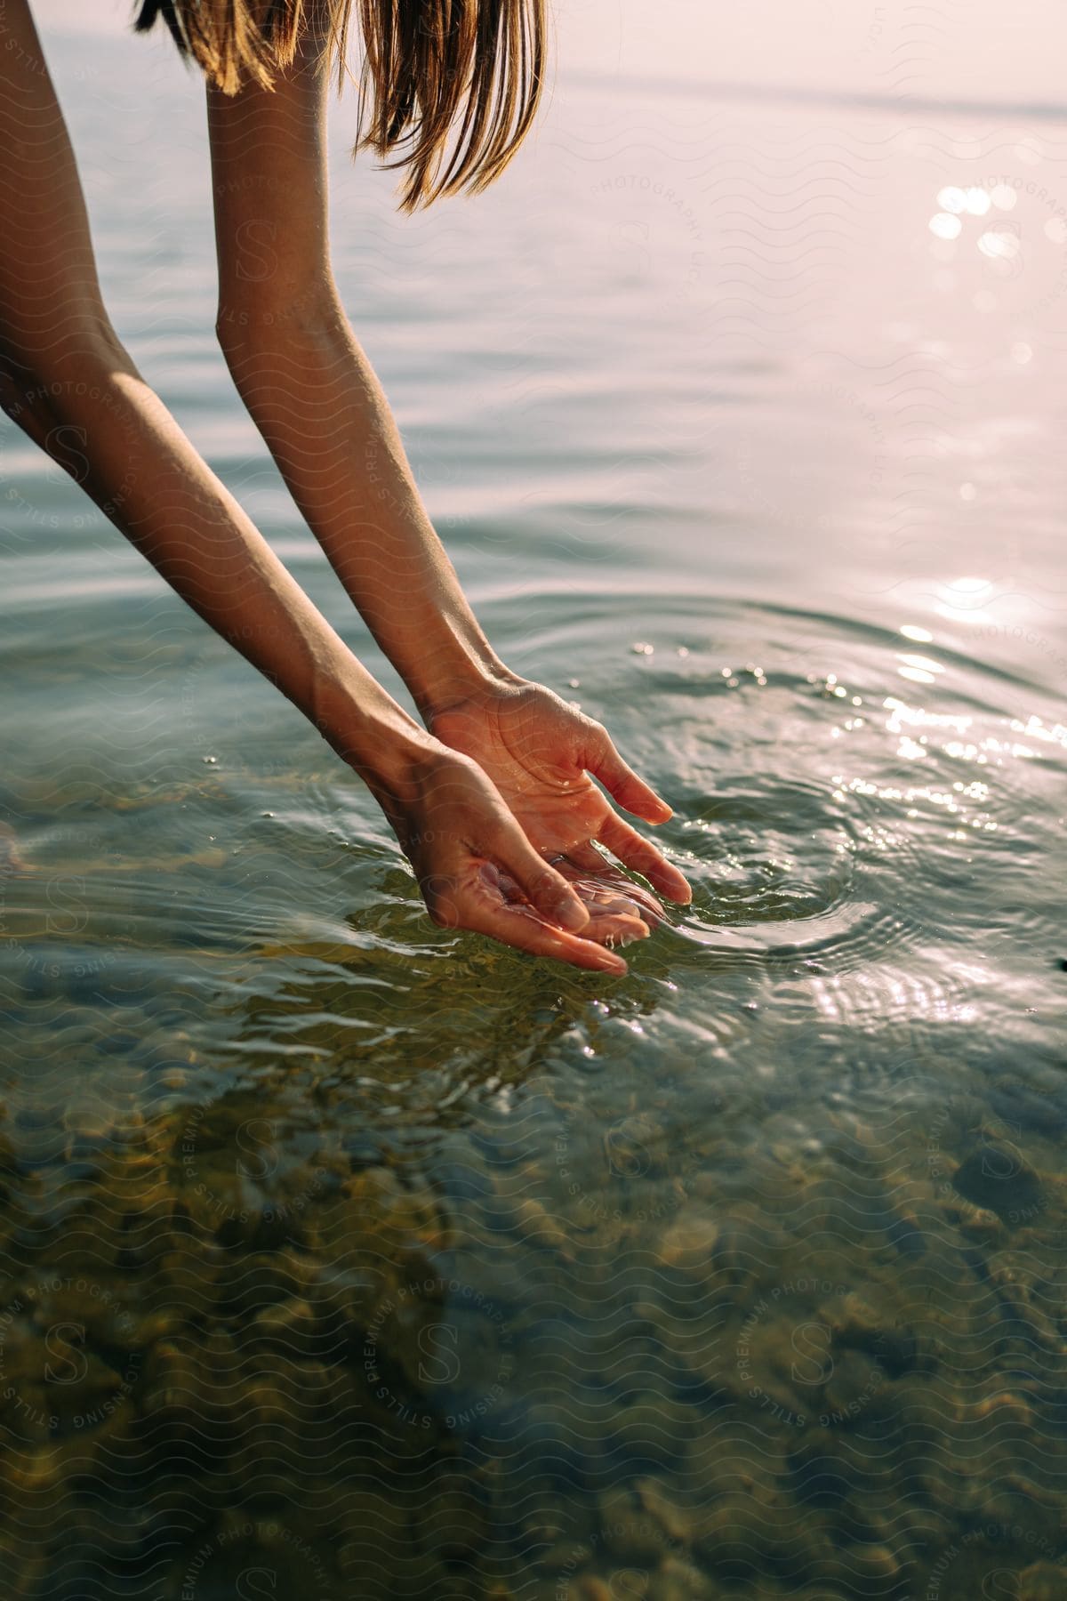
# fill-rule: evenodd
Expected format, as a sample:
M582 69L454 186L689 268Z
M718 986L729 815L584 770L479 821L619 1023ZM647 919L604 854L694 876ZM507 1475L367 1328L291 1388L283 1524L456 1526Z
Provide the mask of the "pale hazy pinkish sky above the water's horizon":
M549 0L560 69L968 99L1062 99L1062 0ZM35 0L122 30L128 0Z

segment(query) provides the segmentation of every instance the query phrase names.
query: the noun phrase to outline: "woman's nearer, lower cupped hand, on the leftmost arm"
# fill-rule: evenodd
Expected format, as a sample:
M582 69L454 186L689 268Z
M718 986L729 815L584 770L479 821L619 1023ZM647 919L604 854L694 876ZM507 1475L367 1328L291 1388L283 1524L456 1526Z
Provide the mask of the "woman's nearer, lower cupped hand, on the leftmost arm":
M534 956L624 973L601 941L645 938L629 906L606 897L585 908L530 844L477 762L429 741L403 780L370 780L414 868L434 922L488 933Z

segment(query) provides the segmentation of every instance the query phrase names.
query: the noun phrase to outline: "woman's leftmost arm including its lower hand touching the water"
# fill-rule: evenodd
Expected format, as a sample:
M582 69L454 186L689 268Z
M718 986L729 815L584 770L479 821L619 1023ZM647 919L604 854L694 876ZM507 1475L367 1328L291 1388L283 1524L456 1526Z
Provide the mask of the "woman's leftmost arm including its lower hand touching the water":
M427 735L357 661L138 373L101 299L67 130L26 0L0 5L0 149L8 415L366 780L437 922L624 970L590 938L552 925L593 927L477 764Z

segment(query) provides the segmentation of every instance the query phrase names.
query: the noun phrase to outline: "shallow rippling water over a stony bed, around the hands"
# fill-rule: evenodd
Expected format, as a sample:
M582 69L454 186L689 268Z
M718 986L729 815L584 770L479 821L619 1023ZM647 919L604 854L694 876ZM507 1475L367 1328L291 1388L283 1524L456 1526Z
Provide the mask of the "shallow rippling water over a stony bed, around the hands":
M123 336L397 687L214 349L194 85L48 43ZM430 512L694 901L609 981L435 929L5 423L6 1593L1061 1596L1062 123L573 75L419 219L344 130Z

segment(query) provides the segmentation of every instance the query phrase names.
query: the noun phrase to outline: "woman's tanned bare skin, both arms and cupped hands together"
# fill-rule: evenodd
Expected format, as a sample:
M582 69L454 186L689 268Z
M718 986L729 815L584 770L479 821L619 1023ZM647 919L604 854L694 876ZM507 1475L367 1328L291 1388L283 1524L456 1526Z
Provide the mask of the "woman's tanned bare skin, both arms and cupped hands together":
M613 809L670 809L600 724L509 671L426 514L338 296L322 18L274 90L208 90L218 336L309 528L426 725L374 680L197 453L104 307L82 184L27 0L0 0L0 403L166 583L368 784L435 922L625 972L685 877ZM590 776L592 775L592 776Z

